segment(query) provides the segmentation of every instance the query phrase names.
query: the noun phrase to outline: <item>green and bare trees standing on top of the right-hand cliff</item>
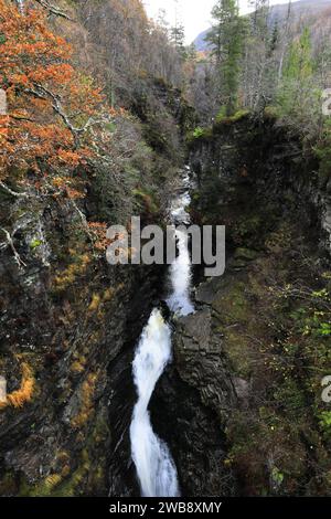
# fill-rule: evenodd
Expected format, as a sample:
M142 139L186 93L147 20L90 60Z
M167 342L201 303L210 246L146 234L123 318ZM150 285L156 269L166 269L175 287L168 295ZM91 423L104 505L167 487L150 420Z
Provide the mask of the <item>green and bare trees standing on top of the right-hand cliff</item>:
M242 110L258 119L276 118L278 125L301 136L308 151L321 158L321 182L325 187L331 144L329 117L322 106L323 93L330 87L330 10L325 6L321 11L305 12L302 8L297 17L296 7L289 2L282 19L278 19L267 0L250 3L255 10L248 17L239 17L236 2L215 3L214 24L205 36L210 51L197 61L193 74L195 82L203 74L203 93L213 102L195 92L192 81L204 135L214 124ZM195 133L200 136L201 131Z

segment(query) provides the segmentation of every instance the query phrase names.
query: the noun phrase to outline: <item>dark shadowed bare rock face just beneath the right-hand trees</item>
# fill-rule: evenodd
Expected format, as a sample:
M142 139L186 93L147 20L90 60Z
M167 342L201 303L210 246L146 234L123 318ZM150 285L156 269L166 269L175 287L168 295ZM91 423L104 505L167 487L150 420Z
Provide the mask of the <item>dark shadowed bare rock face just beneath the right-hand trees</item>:
M256 203L269 219L296 212L314 227L321 251L331 253L330 186L321 186L317 158L274 119L244 114L237 123L216 124L193 140L191 161L201 180L194 209L202 219L226 223L227 210L254 212Z

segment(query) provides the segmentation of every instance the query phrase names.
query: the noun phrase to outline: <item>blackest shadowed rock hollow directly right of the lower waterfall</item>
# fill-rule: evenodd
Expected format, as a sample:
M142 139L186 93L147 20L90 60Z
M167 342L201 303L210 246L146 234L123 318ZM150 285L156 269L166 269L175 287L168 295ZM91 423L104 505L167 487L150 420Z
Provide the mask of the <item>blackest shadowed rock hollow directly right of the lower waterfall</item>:
M236 494L236 480L225 466L224 423L203 404L195 383L184 382L174 367L153 394L151 416L174 458L182 496Z

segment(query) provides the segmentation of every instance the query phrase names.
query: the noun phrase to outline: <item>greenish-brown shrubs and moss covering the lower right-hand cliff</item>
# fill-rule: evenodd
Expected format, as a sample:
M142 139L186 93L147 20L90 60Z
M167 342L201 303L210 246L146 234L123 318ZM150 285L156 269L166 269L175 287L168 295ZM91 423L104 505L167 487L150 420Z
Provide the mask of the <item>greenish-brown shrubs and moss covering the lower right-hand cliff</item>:
M310 474L308 491L330 494L331 415L321 401L321 380L331 368L329 275L317 277L301 255L293 256L299 250L308 257L310 245L288 220L264 229L259 252L248 248L250 229L260 229L263 218L258 210L245 216L234 260L246 267L227 273L213 303L228 366L250 381L249 409L228 421L226 464L245 475L248 495L293 495L306 485L307 455L313 453L323 476ZM277 460L268 465L274 452Z

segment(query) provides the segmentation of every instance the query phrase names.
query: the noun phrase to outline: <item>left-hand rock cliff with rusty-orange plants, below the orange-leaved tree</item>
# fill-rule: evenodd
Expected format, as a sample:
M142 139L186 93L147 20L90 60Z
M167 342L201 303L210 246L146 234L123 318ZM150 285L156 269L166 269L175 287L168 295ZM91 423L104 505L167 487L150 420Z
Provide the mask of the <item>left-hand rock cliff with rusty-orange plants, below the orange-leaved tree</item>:
M1 208L24 262L11 247L2 254L1 494L126 494L130 361L160 273L93 256L70 202L10 198Z

